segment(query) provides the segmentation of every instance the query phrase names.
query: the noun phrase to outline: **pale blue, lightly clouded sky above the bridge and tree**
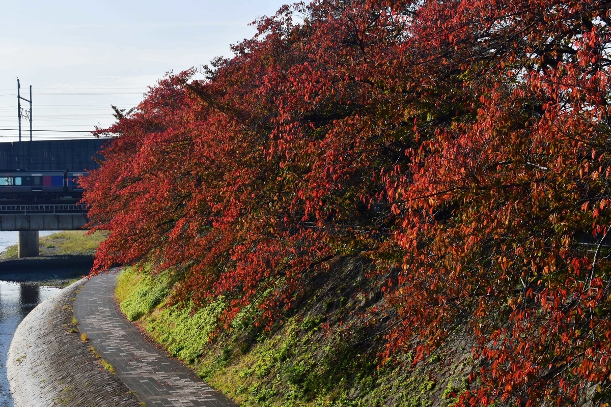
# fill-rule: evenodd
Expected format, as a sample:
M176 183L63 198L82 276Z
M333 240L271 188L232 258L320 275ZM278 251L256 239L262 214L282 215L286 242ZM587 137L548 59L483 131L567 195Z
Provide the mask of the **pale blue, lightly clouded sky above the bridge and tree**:
M18 140L21 95L32 86L34 140L88 138L129 109L168 71L232 56L281 0L2 1L0 142ZM24 114L29 103L21 101ZM29 140L29 119L21 120ZM45 131L43 131L45 130ZM52 130L52 131L49 131Z

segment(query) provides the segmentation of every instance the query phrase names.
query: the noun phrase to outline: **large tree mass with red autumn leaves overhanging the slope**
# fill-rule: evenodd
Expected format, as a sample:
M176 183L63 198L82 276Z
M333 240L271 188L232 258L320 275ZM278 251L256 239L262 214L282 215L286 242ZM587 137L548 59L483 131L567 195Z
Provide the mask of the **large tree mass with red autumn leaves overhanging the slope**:
M460 330L461 405L608 403L610 10L282 8L207 80L170 75L99 131L95 270L145 261L177 298L224 295L227 322L249 307L270 326L332 259L368 258L388 282L382 359Z

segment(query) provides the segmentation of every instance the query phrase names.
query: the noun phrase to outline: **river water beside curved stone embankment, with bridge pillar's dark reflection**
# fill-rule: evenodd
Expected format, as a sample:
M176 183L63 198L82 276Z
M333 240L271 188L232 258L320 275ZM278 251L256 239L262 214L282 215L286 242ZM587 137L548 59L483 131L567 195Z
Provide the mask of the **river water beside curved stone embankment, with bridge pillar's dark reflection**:
M0 281L0 406L13 406L6 376L6 355L17 326L34 309L60 289Z

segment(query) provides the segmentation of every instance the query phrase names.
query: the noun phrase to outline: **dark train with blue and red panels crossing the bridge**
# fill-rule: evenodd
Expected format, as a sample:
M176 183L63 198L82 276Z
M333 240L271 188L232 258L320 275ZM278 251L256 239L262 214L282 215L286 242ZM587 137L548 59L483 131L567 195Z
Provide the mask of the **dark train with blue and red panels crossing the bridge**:
M0 201L78 201L87 171L0 170Z

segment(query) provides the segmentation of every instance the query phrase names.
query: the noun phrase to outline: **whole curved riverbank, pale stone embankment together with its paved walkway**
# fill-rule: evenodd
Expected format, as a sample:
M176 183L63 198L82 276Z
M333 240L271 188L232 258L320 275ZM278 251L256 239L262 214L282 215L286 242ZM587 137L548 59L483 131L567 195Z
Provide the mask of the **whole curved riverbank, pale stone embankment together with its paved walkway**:
M236 407L148 343L115 284L115 273L78 281L24 318L7 357L15 407Z

